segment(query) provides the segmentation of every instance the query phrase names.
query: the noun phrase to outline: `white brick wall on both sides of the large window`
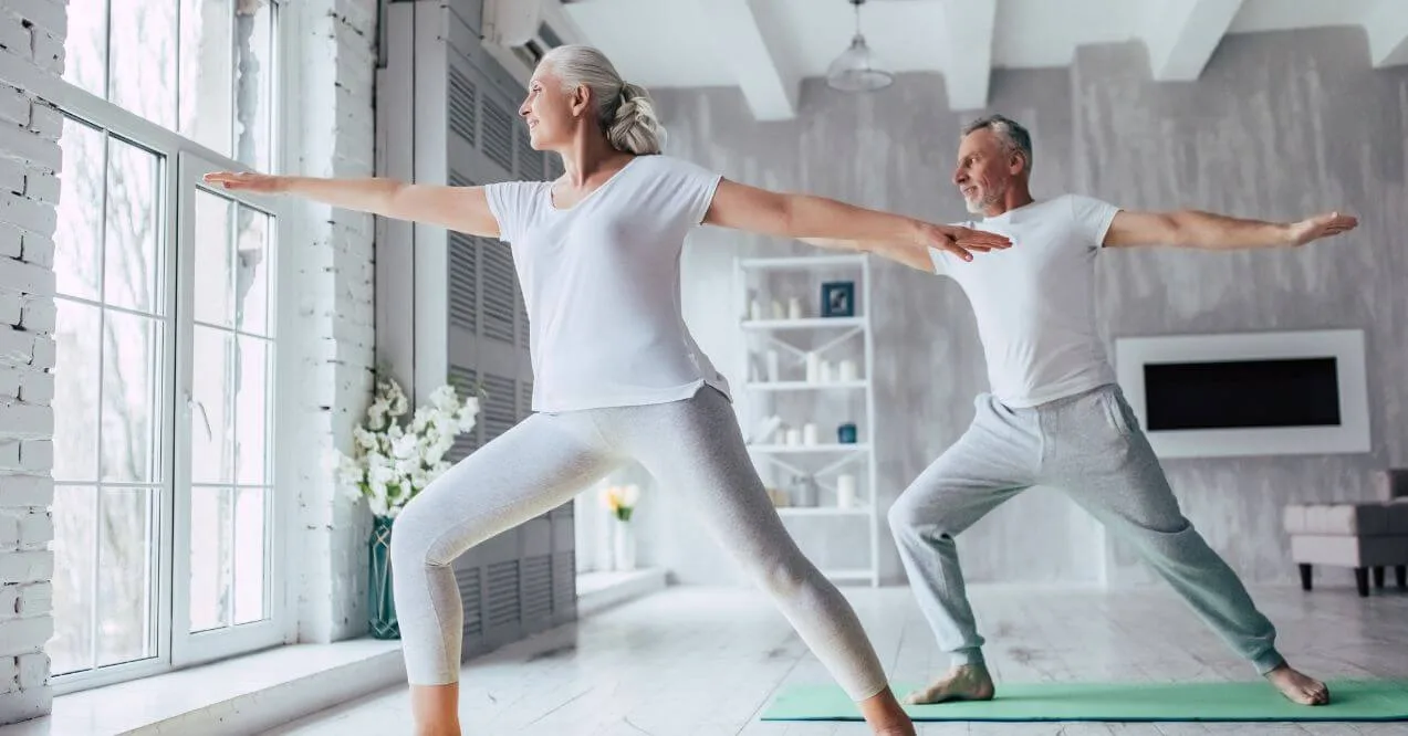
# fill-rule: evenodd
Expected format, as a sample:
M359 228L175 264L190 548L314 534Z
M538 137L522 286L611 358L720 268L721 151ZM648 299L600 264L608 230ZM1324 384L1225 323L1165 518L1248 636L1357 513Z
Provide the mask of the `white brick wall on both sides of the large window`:
M369 176L375 139L376 0L286 6L300 32L296 110L301 141L290 169L310 176ZM63 69L65 0L4 0L0 53L52 75ZM10 59L13 61L13 59ZM329 114L332 111L332 114ZM55 329L54 231L62 117L0 79L0 723L46 713L52 692L42 652L54 632ZM301 212L297 248L301 401L286 436L307 438L297 469L298 529L290 559L298 590L298 639L365 632L366 515L332 484L322 457L351 446L375 362L373 222L322 207Z

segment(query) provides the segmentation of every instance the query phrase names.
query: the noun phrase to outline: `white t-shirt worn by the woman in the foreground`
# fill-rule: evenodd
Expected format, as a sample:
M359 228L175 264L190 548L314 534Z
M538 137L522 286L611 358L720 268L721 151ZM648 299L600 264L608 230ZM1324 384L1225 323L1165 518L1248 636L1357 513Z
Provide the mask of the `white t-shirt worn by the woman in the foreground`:
M567 210L551 182L484 187L531 326L534 411L663 404L728 383L680 308L680 252L719 175L636 156Z

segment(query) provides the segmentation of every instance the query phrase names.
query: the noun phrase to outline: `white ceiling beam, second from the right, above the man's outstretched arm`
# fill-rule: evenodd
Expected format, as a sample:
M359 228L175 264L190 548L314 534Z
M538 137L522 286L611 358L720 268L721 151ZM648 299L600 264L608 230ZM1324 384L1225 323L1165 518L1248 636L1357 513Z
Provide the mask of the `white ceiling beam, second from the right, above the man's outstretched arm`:
M1149 6L1145 45L1159 82L1193 82L1212 58L1242 0L1155 0Z

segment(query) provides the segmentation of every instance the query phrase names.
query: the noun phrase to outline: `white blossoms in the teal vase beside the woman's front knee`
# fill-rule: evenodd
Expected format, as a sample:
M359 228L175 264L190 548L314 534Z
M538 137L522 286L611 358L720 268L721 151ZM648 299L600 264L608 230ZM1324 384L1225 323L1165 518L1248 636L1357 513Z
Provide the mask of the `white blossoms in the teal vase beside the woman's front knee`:
M376 516L396 518L415 494L449 470L445 453L456 436L474 428L479 417L479 397L460 401L453 386L436 388L410 418L408 404L396 380L377 381L366 421L353 431L353 455L338 453L344 488L353 498L366 498Z

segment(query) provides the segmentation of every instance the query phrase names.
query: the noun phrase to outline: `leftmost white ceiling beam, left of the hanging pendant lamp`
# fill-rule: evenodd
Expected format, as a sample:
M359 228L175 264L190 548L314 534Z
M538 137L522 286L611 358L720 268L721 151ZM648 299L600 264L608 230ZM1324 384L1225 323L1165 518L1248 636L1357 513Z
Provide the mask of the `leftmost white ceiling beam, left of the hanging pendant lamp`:
M738 87L756 120L797 117L800 77L791 72L776 45L767 44L765 24L753 7L758 0L696 0L707 32L718 39L719 53L732 68Z

